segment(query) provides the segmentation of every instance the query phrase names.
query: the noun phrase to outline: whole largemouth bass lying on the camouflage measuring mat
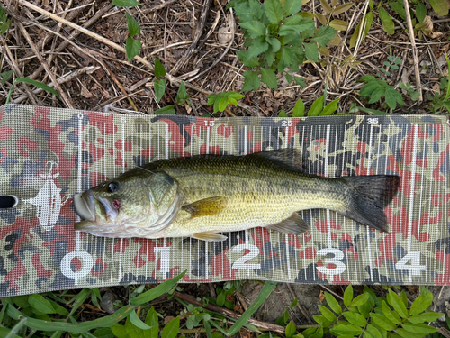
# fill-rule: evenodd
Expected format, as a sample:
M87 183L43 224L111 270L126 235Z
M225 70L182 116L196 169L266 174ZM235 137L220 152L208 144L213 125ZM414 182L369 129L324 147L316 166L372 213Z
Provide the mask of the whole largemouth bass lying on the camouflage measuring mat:
M159 160L74 196L84 220L76 230L104 237L193 237L257 226L288 234L309 230L297 213L325 208L389 232L384 207L398 176L323 178L302 172L298 151Z

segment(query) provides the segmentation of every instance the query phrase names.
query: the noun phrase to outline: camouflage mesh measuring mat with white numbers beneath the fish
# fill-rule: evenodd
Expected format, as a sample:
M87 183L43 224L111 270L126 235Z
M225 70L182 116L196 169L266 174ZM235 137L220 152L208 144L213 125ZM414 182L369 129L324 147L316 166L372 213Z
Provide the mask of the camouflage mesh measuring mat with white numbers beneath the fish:
M298 237L257 228L225 242L106 239L73 229L73 194L137 165L287 147L317 175L400 175L385 209L392 232L329 210L302 211L311 231ZM185 282L449 284L449 171L444 116L211 119L4 105L0 196L16 205L0 208L0 297L157 283L184 269Z

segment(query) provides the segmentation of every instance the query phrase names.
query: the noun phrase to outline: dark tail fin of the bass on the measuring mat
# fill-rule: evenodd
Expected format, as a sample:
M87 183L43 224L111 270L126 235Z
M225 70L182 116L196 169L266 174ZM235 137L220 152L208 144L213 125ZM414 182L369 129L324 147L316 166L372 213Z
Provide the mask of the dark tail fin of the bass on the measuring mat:
M343 178L350 187L345 215L356 222L390 233L384 207L391 203L400 185L399 176L358 176Z

